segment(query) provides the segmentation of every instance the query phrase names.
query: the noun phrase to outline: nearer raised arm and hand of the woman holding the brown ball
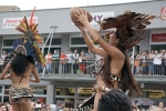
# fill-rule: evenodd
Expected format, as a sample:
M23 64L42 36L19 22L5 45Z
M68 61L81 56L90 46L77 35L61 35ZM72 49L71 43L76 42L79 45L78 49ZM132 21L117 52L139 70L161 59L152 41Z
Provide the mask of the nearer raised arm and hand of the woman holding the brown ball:
M81 9L80 9L81 10ZM103 40L103 38L101 38L100 33L90 24L90 22L87 21L87 16L85 12L77 11L77 14L75 14L82 24L84 24L84 27L87 29L87 31L90 32L90 34L92 36L92 38L114 59L121 59L124 60L124 54L122 53L121 50L118 50L116 47L114 46L110 46L107 42L105 42Z

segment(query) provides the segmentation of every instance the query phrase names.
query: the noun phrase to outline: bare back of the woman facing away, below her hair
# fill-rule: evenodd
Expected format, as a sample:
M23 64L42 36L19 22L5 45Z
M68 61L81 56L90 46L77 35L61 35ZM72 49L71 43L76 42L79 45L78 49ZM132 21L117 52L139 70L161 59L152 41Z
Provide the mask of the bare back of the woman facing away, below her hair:
M21 87L21 88L29 88L30 83L30 75L32 73L32 64L29 65L28 71L24 74L17 75L13 71L11 72L12 77L12 87Z

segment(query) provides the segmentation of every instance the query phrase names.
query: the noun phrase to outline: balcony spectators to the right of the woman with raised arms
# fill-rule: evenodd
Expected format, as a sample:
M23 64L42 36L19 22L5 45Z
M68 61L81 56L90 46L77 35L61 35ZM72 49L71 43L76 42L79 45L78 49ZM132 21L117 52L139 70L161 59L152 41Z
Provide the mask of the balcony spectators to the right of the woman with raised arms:
M134 58L134 59L133 59ZM134 74L166 75L166 50L138 51L129 56Z

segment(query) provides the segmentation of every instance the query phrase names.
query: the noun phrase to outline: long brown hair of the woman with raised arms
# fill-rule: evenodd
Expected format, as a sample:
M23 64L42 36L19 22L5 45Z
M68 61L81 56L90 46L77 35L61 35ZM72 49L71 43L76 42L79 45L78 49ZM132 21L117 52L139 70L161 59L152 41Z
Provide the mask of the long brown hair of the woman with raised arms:
M129 36L133 36L133 31L128 29ZM116 33L116 38L118 39L118 34ZM125 56L125 61L124 61L124 65L122 68L122 75L121 75L121 82L120 82L120 88L125 92L127 90L129 90L128 95L129 97L134 97L134 95L141 95L141 91L137 87L137 83L132 74L132 70L131 70L131 64L129 64L129 60L128 60L128 56L126 52L126 49L122 46L121 42L117 43L116 46L117 49L120 49L123 54ZM108 88L114 88L113 83L112 83L112 78L111 75L111 67L110 67L110 61L111 61L111 56L107 56L104 59L104 64L101 69L101 71L103 72L103 81L104 83L108 87Z

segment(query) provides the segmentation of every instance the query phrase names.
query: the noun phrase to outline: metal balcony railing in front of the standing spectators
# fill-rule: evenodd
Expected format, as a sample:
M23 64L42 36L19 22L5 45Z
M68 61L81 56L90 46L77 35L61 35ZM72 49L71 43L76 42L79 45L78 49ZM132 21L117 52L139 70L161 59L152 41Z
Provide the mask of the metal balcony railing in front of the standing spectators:
M8 62L0 61L0 73L2 73L7 63ZM38 63L35 67L40 75L82 75L90 74L93 70L97 69L95 60L85 60L81 62L52 61L51 63L46 63L46 67L42 67ZM162 61L160 64L155 64L153 61L143 60L139 61L137 65L133 62L131 68L134 75L166 75L166 61Z

